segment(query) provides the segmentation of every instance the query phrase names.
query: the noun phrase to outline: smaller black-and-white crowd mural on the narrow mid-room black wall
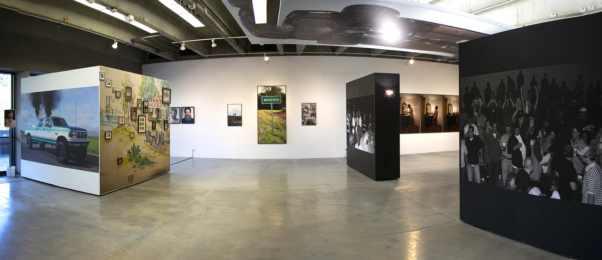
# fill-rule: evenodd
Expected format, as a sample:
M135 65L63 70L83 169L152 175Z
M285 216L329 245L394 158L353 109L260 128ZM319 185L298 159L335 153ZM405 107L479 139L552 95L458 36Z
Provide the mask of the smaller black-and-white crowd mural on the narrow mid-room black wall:
M374 153L374 95L347 99L347 144Z

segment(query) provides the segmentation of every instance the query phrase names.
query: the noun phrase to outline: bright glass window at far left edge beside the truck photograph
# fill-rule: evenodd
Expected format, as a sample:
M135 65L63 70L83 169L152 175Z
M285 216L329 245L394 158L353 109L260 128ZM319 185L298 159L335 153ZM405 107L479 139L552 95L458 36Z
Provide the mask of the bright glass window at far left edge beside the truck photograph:
M4 110L12 108L11 87L13 85L12 75L0 73L0 172L4 172L10 165L9 150L10 137L8 131L10 128L4 127Z

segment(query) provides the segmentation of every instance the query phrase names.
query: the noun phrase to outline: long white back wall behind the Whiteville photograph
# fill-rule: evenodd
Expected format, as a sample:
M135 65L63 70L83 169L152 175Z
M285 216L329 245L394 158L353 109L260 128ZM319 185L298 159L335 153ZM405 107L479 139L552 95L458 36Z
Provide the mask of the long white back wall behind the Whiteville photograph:
M172 107L195 108L194 125L170 125L171 155L206 158L345 156L346 83L374 72L399 73L401 93L458 95L458 66L422 61L275 56L143 66L143 75L170 81ZM287 86L286 144L257 144L258 85ZM317 103L317 125L302 126L301 103L310 102ZM227 104L243 104L243 126L227 126ZM458 150L458 138L402 134L400 153Z

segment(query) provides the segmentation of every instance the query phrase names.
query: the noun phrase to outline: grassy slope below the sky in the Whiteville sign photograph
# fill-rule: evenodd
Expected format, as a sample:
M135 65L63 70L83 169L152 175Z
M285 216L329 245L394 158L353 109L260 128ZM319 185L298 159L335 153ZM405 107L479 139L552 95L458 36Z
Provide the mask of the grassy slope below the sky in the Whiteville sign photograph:
M274 110L274 132L270 110L257 111L257 143L287 143L287 114Z

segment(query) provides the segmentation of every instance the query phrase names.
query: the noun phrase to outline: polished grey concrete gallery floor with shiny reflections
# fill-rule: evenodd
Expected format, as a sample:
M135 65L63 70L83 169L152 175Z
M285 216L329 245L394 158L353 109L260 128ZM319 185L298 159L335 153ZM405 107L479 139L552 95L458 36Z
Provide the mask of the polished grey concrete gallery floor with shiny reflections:
M345 158L193 158L104 196L2 183L0 259L565 259L459 220L458 151L401 164L375 182Z

